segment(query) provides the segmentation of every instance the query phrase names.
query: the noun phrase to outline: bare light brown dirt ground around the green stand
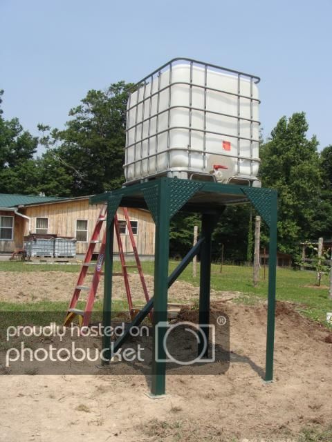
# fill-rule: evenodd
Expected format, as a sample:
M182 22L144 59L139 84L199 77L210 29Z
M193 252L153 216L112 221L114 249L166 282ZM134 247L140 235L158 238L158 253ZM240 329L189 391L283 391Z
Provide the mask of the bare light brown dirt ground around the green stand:
M67 299L63 293L75 284L75 275L64 276L17 273L20 282L30 280L19 286L17 280L18 290L1 274L1 299L44 299L52 287L53 300ZM197 294L190 285L178 284L174 298ZM275 380L264 383L266 305L228 300L212 307L230 318L230 367L224 374L167 376L168 395L157 400L145 395L149 376L3 375L0 441L286 442L297 440L305 427L331 425L332 344L324 327L279 302Z

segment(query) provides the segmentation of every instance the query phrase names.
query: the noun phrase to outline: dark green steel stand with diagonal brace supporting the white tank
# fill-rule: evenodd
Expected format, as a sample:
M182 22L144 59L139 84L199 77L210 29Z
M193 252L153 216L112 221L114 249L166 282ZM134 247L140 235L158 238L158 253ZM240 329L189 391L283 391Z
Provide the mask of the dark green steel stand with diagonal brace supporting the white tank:
M183 271L192 259L192 256L201 251L201 278L199 291L199 323L210 323L210 273L212 232L217 220L223 213L225 206L250 202L261 218L266 222L270 231L269 244L269 272L268 272L268 312L266 334L266 370L265 381L273 380L273 352L275 336L275 288L276 288L276 255L277 255L277 192L271 189L259 189L234 184L219 184L181 180L178 178L160 177L149 182L141 182L132 186L123 187L116 191L95 195L90 199L91 204L107 203L107 247L105 251L104 269L104 306L103 325L111 325L112 300L112 269L113 269L113 224L114 215L119 206L149 209L156 223L156 252L154 267L154 296L136 317L136 325L140 323L148 311L154 307L153 329L159 323L167 321L167 291L174 280ZM169 222L178 211L201 213L202 235L199 244L192 249L168 276L169 265ZM130 327L130 325L129 325ZM163 359L163 342L165 330L160 329L158 342L154 333L152 356L151 394L159 396L165 394L166 363ZM159 330L159 331L160 331ZM127 330L129 332L129 330ZM208 330L202 332L206 335ZM208 337L208 336L207 336ZM123 341L122 341L123 342ZM116 343L118 348L122 342ZM104 336L102 341L104 357L111 360L115 351L110 340ZM159 360L156 361L156 352Z

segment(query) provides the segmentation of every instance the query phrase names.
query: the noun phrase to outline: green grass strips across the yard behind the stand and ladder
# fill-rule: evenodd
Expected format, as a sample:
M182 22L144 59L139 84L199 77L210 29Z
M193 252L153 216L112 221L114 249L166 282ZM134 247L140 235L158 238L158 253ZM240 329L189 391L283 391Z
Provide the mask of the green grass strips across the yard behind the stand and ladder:
M174 270L178 262L169 261L169 272ZM154 274L154 262L142 262L145 273ZM199 266L198 266L199 267ZM30 265L24 262L0 262L0 271L66 271L78 273L80 266L76 265ZM114 262L113 271L120 271L120 262ZM179 280L188 282L195 287L199 286L199 268L196 278L192 276L192 265L189 265L181 274ZM239 291L243 296L240 302L255 303L257 299L265 299L268 290L268 270L264 280L264 271L260 272L261 281L258 287L252 287L252 268L247 266L224 265L220 272L220 265L212 265L212 289L218 291ZM328 285L327 276L322 278L322 285ZM69 295L68 295L69 300ZM329 299L328 289L315 287L315 273L313 271L294 271L292 269L277 269L277 300L294 302L304 316L320 321L326 325L326 311L332 311L332 300ZM1 310L19 311L21 305L1 302ZM29 302L24 305L28 311L66 311L66 302ZM78 307L79 308L79 307ZM127 309L126 302L116 304L115 308L120 311ZM95 311L102 310L102 302L95 303Z

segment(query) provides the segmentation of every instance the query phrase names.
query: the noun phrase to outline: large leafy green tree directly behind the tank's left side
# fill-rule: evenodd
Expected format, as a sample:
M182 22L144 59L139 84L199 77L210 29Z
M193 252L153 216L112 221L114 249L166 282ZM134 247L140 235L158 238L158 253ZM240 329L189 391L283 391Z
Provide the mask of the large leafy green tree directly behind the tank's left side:
M63 131L54 129L50 135L42 137L42 144L53 152L53 160L59 166L56 173L64 175L66 171L71 175L66 182L71 195L102 193L124 182L127 90L130 86L120 81L105 91L89 90L80 106L69 112L72 118L66 128ZM45 126L40 128L45 129ZM50 162L50 155L44 160Z

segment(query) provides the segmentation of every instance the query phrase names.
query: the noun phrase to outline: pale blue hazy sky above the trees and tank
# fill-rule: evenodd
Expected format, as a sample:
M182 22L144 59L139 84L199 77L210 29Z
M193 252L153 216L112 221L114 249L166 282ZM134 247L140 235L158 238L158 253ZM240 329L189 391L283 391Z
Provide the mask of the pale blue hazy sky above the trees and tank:
M332 144L332 0L0 0L3 116L63 128L90 89L175 57L261 77L264 137L304 111Z

